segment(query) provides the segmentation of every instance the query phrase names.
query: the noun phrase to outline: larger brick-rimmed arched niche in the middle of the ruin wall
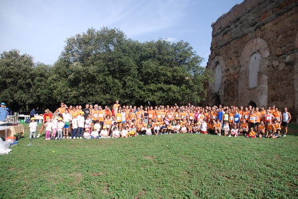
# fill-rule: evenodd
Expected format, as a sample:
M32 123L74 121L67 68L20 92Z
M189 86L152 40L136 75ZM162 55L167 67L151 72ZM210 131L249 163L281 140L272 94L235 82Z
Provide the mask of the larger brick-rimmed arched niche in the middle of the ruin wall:
M269 47L262 38L250 40L241 52L238 81L238 102L248 104L254 101L258 105L268 103Z

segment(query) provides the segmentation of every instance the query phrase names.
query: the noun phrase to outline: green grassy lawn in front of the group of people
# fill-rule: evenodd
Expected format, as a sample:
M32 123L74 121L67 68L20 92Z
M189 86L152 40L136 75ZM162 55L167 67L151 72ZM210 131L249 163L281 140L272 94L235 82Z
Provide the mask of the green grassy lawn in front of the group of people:
M0 156L0 198L296 198L297 135L30 141L26 133Z

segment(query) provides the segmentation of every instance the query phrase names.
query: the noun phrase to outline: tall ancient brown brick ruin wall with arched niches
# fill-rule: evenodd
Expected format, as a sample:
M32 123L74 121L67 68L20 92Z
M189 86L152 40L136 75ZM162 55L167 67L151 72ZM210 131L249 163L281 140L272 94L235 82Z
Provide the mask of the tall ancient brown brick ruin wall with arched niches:
M207 102L275 104L298 122L298 1L244 0L212 28Z

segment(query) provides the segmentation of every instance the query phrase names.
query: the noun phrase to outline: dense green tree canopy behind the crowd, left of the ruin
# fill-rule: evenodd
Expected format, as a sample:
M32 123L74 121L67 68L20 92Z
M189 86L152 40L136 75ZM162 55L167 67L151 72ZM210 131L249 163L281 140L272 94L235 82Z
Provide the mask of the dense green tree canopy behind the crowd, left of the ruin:
M53 66L18 50L0 56L0 99L15 108L68 104L200 103L211 81L187 42L140 43L119 29L88 29L68 38Z

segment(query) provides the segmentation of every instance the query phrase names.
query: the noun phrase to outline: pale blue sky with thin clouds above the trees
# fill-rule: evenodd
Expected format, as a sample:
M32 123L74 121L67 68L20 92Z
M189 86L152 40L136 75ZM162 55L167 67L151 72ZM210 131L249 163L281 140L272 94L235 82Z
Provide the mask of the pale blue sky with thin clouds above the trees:
M20 50L54 64L67 38L88 28L119 28L146 42L167 38L210 54L211 24L243 0L0 0L0 53Z

